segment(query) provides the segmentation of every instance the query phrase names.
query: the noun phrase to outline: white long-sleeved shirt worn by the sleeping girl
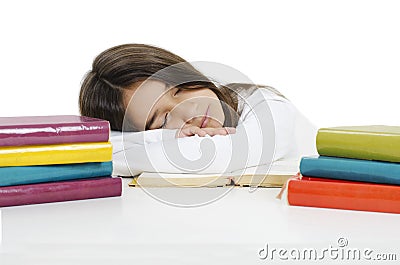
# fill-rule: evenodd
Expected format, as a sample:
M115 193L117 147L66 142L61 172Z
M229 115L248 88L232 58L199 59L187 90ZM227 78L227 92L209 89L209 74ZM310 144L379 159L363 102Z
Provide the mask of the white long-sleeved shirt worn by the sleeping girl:
M143 171L223 173L317 154L317 128L287 99L259 88L245 99L236 133L175 138L176 130L112 132L113 175Z

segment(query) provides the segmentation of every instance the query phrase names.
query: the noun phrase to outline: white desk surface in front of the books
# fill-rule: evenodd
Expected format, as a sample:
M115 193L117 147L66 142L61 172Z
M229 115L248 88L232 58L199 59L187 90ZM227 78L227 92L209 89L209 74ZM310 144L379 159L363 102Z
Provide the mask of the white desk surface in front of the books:
M119 198L2 208L0 264L309 264L262 260L258 251L266 243L322 251L341 237L348 247L397 253L397 262L379 264L400 260L400 215L289 207L275 199L279 189L249 188L181 208L128 181ZM353 263L375 264L345 264Z

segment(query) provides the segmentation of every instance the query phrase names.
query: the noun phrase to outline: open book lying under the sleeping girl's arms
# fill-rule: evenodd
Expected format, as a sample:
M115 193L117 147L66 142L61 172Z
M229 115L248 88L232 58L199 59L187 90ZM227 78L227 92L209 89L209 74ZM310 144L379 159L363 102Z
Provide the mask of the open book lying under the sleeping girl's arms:
M138 187L282 187L299 171L299 160L275 161L223 174L143 172L129 186Z

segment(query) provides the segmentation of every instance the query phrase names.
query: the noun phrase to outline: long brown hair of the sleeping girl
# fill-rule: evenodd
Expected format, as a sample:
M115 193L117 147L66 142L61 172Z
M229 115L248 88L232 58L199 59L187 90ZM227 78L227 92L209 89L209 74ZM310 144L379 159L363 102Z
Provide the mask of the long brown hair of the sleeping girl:
M234 84L217 86L178 55L146 44L115 46L94 59L92 70L81 85L81 115L108 120L112 130L122 131L124 91L133 83L150 77L181 89L211 89L222 103L224 126L237 125L238 97L230 88L235 87Z

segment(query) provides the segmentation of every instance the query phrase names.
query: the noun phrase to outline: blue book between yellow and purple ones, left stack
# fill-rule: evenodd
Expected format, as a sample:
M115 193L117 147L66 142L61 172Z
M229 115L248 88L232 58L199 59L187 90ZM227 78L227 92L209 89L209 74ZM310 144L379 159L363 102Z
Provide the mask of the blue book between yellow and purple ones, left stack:
M109 176L112 162L0 167L0 186Z

